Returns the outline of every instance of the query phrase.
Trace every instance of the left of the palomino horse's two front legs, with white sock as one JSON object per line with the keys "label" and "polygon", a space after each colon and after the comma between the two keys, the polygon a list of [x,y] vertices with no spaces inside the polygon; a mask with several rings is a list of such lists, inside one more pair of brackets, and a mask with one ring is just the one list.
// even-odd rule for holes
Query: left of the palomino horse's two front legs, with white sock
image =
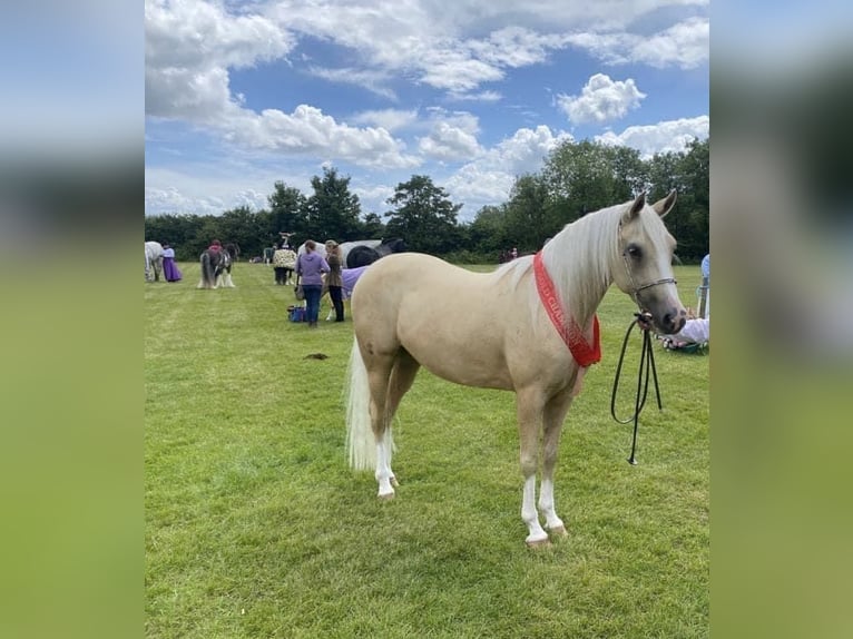
{"label": "left of the palomino horse's two front legs, with white sock", "polygon": [[539,523],[539,514],[536,511],[536,469],[542,402],[538,392],[519,392],[517,402],[521,474],[524,478],[521,519],[528,529],[524,541],[529,547],[536,548],[548,543],[548,533]]}

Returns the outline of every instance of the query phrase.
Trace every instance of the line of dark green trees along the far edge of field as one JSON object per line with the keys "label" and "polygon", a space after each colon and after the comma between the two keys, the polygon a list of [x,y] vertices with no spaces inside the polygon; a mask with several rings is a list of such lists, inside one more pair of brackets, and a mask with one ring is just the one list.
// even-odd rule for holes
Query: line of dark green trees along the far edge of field
{"label": "line of dark green trees along the far edge of field", "polygon": [[678,240],[678,258],[692,263],[708,253],[708,159],[709,140],[694,140],[683,153],[648,160],[627,147],[566,141],[549,154],[539,173],[517,177],[504,204],[481,208],[470,223],[459,222],[462,205],[424,175],[399,184],[382,216],[363,214],[359,197],[350,191],[350,177],[325,168],[323,176],[312,178],[308,196],[276,181],[262,210],[146,216],[145,239],[168,242],[178,259],[195,260],[213,238],[237,243],[246,258],[262,255],[280,232],[293,233],[296,243],[310,237],[402,237],[411,250],[458,263],[493,263],[513,246],[520,254],[536,252],[566,224],[640,190],[654,201],[675,188],[678,201],[667,226]]}

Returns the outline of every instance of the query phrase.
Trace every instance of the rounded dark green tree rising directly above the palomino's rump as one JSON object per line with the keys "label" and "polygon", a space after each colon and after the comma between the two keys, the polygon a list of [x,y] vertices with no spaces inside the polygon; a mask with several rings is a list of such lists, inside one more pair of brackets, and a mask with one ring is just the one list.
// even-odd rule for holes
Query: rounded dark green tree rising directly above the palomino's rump
{"label": "rounded dark green tree rising directly above the palomino's rump", "polygon": [[402,237],[411,250],[433,255],[457,248],[457,216],[462,205],[453,204],[429,176],[413,175],[409,181],[398,184],[386,203],[395,207],[385,214],[389,236]]}

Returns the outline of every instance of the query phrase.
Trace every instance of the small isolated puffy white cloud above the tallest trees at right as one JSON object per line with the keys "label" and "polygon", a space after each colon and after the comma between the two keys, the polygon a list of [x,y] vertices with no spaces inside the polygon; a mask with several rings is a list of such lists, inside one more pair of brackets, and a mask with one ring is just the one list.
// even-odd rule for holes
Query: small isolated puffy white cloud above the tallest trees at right
{"label": "small isolated puffy white cloud above the tallest trees at right", "polygon": [[614,81],[609,76],[596,73],[580,96],[560,94],[557,104],[575,124],[600,124],[624,118],[630,109],[639,107],[645,97],[633,79]]}

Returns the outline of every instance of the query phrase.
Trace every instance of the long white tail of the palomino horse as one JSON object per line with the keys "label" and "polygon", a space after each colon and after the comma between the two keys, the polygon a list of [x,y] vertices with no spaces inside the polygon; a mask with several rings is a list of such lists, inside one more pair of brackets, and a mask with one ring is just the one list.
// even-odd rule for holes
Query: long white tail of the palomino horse
{"label": "long white tail of the palomino horse", "polygon": [[350,466],[360,470],[376,469],[376,440],[370,421],[370,386],[367,368],[353,340],[350,365],[346,372],[346,451]]}

